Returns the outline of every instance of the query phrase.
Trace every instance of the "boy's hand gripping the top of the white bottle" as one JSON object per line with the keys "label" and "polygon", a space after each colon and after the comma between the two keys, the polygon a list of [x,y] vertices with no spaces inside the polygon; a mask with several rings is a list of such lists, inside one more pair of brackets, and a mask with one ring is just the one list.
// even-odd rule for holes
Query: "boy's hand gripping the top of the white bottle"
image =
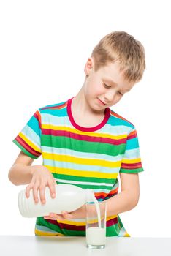
{"label": "boy's hand gripping the top of the white bottle", "polygon": [[52,173],[45,166],[42,165],[34,165],[33,166],[33,175],[31,179],[31,183],[26,187],[26,197],[30,196],[30,190],[33,190],[33,197],[35,203],[39,202],[39,198],[41,203],[46,203],[45,200],[45,187],[48,186],[50,188],[50,195],[52,198],[56,197],[56,189],[55,184],[56,181],[53,178]]}

